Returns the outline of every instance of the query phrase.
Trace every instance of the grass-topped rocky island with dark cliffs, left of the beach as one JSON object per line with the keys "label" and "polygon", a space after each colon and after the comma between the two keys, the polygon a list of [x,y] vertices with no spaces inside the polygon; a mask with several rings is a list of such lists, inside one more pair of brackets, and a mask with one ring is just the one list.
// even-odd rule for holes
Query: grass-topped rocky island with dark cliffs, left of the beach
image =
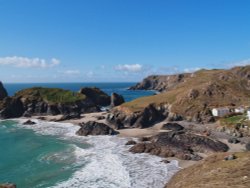
{"label": "grass-topped rocky island with dark cliffs, left of the beach", "polygon": [[[0,102],[0,117],[58,114],[76,117],[81,113],[100,111],[99,105],[103,104],[103,93],[96,89],[91,92],[92,97],[88,97],[81,93],[55,88],[25,89]],[[95,96],[94,100],[93,96]]]}

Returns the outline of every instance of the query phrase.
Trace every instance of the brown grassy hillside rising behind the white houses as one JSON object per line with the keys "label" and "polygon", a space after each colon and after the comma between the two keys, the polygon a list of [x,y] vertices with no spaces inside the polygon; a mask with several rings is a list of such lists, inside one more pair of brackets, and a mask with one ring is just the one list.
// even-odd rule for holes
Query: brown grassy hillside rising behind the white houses
{"label": "brown grassy hillside rising behind the white houses", "polygon": [[141,111],[149,104],[171,105],[171,111],[193,116],[205,109],[220,106],[250,105],[250,66],[231,70],[200,70],[158,95],[124,103],[131,112]]}

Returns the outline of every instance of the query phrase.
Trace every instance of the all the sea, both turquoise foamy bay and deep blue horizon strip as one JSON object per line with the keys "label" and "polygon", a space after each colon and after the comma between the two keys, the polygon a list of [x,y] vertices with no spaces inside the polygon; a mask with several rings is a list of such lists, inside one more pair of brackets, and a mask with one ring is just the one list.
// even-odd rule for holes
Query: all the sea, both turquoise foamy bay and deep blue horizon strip
{"label": "all the sea, both turquoise foamy bay and deep blue horizon strip", "polygon": [[[56,87],[78,91],[98,87],[116,92],[126,101],[153,95],[130,91],[135,83],[32,83],[4,84],[10,96],[30,87]],[[70,123],[25,119],[0,120],[0,183],[17,188],[161,188],[180,169],[178,162],[162,162],[149,154],[128,152],[132,138],[77,136]]]}

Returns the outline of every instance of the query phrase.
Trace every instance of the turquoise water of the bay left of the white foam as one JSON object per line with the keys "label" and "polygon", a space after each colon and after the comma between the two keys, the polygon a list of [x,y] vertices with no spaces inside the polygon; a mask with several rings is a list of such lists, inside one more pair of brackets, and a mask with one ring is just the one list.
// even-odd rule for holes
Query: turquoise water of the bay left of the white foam
{"label": "turquoise water of the bay left of the white foam", "polygon": [[0,143],[0,182],[20,188],[52,186],[85,165],[76,163],[73,143],[18,128],[15,121],[0,122]]}

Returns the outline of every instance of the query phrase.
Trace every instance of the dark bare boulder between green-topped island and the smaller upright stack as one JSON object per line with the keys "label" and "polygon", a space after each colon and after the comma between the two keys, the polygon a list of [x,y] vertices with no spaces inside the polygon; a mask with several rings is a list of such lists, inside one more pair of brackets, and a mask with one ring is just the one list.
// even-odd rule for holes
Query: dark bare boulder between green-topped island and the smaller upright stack
{"label": "dark bare boulder between green-topped island and the smaller upright stack", "polygon": [[108,96],[106,93],[104,93],[99,88],[85,87],[85,88],[81,88],[79,93],[87,96],[87,98],[92,100],[96,105],[108,106],[110,104],[110,96]]}

